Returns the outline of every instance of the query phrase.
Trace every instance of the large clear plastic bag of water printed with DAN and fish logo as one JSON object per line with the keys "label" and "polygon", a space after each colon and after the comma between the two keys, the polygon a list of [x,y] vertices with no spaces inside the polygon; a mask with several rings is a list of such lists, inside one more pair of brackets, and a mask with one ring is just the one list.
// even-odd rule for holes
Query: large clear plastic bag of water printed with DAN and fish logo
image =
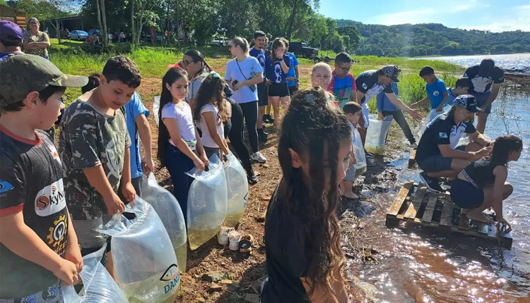
{"label": "large clear plastic bag of water printed with DAN and fish logo", "polygon": [[134,204],[95,230],[112,236],[114,269],[129,302],[172,303],[180,284],[175,249],[153,206],[139,197]]}

